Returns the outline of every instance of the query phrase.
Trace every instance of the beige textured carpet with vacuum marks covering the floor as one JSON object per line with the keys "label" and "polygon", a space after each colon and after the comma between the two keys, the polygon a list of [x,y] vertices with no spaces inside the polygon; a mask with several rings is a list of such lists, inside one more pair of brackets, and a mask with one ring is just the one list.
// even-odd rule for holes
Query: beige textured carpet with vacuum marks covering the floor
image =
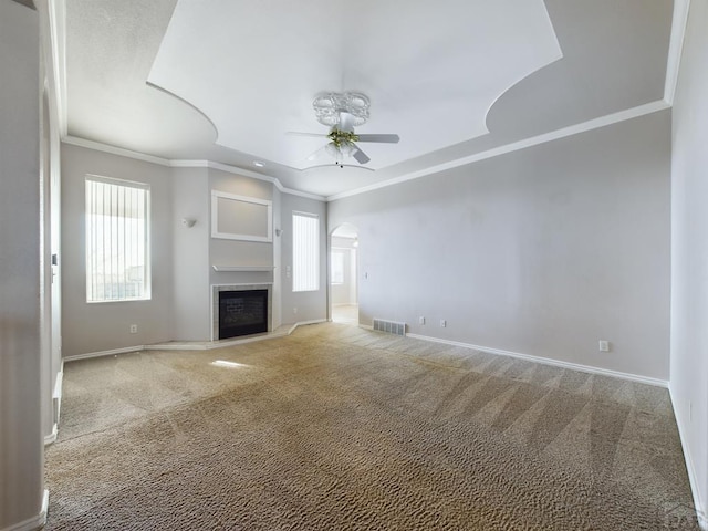
{"label": "beige textured carpet with vacuum marks covering the floor", "polygon": [[334,323],[66,364],[46,477],[49,530],[697,529],[665,389]]}

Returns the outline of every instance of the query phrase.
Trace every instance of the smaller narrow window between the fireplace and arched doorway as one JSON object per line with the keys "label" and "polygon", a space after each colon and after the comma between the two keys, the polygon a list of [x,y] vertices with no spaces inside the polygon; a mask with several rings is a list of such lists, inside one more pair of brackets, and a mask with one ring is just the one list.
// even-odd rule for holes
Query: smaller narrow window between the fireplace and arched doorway
{"label": "smaller narrow window between the fireplace and arched doorway", "polygon": [[292,291],[320,289],[320,218],[292,215]]}

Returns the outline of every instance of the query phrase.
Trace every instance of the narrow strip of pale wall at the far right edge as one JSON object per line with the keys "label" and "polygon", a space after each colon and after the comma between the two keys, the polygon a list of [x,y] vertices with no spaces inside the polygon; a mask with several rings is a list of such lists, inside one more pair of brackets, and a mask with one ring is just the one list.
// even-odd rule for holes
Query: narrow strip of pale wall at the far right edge
{"label": "narrow strip of pale wall at the far right edge", "polygon": [[[674,103],[670,389],[698,509],[708,511],[708,0],[693,0]],[[707,523],[707,522],[705,522]],[[708,524],[706,525],[708,529]]]}

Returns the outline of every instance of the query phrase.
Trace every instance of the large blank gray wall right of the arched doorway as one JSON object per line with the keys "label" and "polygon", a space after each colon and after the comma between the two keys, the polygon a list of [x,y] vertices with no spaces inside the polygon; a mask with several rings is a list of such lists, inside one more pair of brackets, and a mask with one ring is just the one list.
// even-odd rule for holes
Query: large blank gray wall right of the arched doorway
{"label": "large blank gray wall right of the arched doorway", "polygon": [[668,379],[669,150],[662,112],[331,202],[360,322]]}

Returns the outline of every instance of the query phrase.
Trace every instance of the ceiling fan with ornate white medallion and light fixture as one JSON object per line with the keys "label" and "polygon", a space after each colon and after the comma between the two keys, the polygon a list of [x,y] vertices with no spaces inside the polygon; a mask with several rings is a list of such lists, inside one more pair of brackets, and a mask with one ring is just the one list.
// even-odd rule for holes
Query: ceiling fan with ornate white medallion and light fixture
{"label": "ceiling fan with ornate white medallion and light fixture", "polygon": [[317,122],[330,126],[330,133],[295,133],[298,136],[316,136],[329,138],[329,143],[308,157],[308,160],[317,159],[323,153],[334,158],[334,164],[344,167],[344,159],[353,157],[358,164],[371,160],[357,142],[374,142],[397,144],[400,139],[394,134],[356,134],[354,127],[363,125],[368,119],[369,101],[364,94],[345,92],[343,94],[329,92],[319,94],[312,102],[312,107],[317,116]]}

